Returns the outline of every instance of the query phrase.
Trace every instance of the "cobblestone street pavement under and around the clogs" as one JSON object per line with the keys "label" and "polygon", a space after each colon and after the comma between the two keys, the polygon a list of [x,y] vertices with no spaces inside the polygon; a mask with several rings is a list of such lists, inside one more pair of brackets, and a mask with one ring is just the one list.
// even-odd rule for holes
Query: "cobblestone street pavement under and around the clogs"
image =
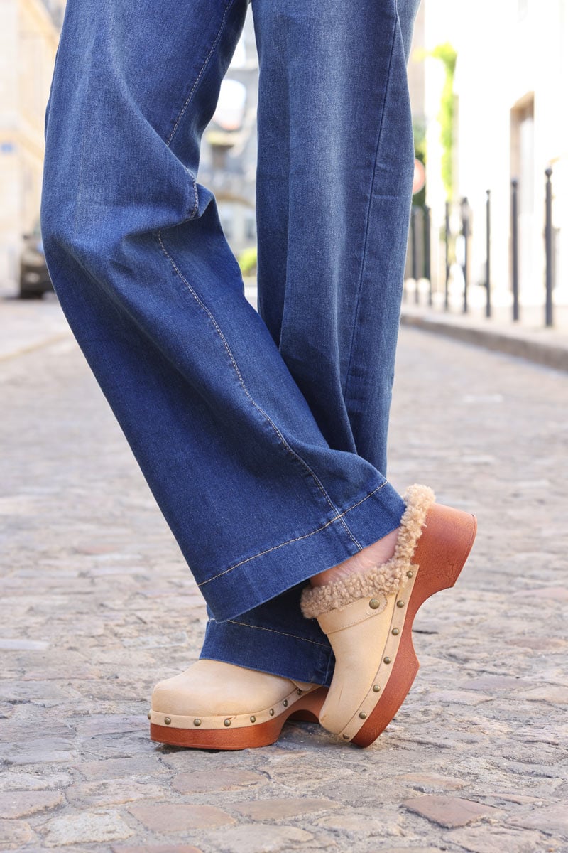
{"label": "cobblestone street pavement under and around the clogs", "polygon": [[258,750],[152,743],[198,591],[74,341],[4,359],[0,393],[1,849],[568,851],[565,374],[401,329],[389,478],[479,536],[364,751],[299,722]]}

